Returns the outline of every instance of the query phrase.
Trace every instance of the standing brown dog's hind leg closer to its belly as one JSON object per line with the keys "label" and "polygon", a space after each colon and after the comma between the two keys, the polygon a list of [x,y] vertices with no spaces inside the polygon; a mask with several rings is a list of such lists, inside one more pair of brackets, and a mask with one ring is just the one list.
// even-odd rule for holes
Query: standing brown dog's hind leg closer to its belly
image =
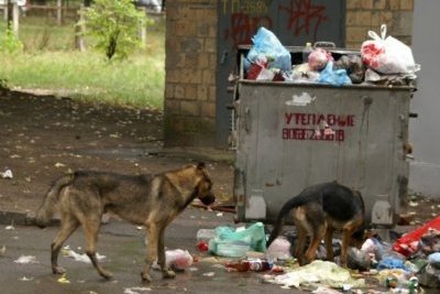
{"label": "standing brown dog's hind leg closer to its belly", "polygon": [[96,246],[101,216],[97,216],[96,218],[86,218],[86,221],[82,224],[87,240],[86,253],[98,273],[105,279],[111,279],[113,275],[109,271],[106,271],[101,265],[99,265],[98,259],[96,257]]}

